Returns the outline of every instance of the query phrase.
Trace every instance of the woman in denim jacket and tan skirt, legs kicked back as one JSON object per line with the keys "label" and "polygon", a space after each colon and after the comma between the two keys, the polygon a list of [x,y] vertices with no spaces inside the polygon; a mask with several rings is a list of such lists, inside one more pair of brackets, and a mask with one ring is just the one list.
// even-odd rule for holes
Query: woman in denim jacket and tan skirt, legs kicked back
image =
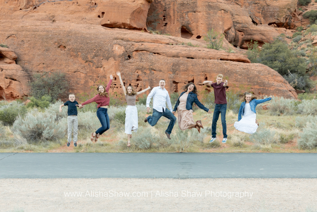
{"label": "woman in denim jacket and tan skirt, legs kicked back", "polygon": [[208,108],[199,102],[197,98],[197,88],[192,82],[184,86],[184,92],[182,92],[178,97],[172,113],[175,115],[175,111],[177,110],[178,126],[181,130],[196,128],[200,133],[200,127],[204,127],[201,120],[196,121],[196,123],[194,122],[192,110],[194,102],[199,108],[203,109],[207,113],[211,113]]}

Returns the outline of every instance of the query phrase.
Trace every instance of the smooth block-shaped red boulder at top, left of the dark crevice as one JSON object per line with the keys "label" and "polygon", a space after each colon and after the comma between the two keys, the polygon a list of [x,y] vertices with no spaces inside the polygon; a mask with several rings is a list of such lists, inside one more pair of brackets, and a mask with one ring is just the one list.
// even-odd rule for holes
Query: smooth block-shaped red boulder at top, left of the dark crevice
{"label": "smooth block-shaped red boulder at top, left of the dark crevice", "polygon": [[[153,0],[107,0],[100,7],[101,26],[146,30],[147,12]],[[99,15],[100,16],[100,15]]]}

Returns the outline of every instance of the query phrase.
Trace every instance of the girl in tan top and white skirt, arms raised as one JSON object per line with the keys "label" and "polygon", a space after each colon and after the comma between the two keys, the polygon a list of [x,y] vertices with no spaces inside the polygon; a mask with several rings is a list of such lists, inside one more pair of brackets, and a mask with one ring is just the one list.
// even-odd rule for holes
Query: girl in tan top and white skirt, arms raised
{"label": "girl in tan top and white skirt, arms raised", "polygon": [[138,130],[138,110],[137,107],[135,106],[135,97],[138,94],[144,93],[147,90],[150,89],[150,86],[146,88],[145,90],[142,90],[140,92],[135,92],[133,87],[129,85],[127,88],[125,88],[122,79],[121,79],[121,73],[116,72],[120,79],[121,87],[123,90],[124,95],[126,96],[126,103],[128,106],[126,107],[126,122],[124,124],[125,127],[125,133],[128,136],[128,143],[127,147],[131,147],[130,144],[130,138],[132,138],[132,130],[136,132]]}

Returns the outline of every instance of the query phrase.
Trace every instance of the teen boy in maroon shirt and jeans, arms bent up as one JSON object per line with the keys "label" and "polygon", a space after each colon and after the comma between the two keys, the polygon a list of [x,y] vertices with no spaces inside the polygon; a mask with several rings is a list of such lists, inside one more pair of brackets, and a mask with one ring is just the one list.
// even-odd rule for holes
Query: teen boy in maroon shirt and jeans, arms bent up
{"label": "teen boy in maroon shirt and jeans, arms bent up", "polygon": [[205,85],[209,85],[214,88],[215,93],[215,110],[214,115],[212,117],[212,125],[211,125],[211,140],[209,143],[214,142],[216,140],[216,129],[217,129],[217,121],[219,119],[219,114],[221,114],[221,123],[222,123],[222,133],[223,140],[222,143],[227,141],[227,124],[226,124],[226,111],[227,111],[227,99],[226,99],[226,87],[228,85],[228,80],[222,81],[223,75],[217,75],[217,82],[212,83],[212,81],[204,81]]}

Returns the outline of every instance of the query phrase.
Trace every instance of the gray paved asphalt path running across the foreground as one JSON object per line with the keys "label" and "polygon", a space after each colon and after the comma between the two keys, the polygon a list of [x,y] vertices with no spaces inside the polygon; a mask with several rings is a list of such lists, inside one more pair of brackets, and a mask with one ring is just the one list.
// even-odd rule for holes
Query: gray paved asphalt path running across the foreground
{"label": "gray paved asphalt path running across the foreground", "polygon": [[317,178],[314,153],[0,153],[0,178]]}

